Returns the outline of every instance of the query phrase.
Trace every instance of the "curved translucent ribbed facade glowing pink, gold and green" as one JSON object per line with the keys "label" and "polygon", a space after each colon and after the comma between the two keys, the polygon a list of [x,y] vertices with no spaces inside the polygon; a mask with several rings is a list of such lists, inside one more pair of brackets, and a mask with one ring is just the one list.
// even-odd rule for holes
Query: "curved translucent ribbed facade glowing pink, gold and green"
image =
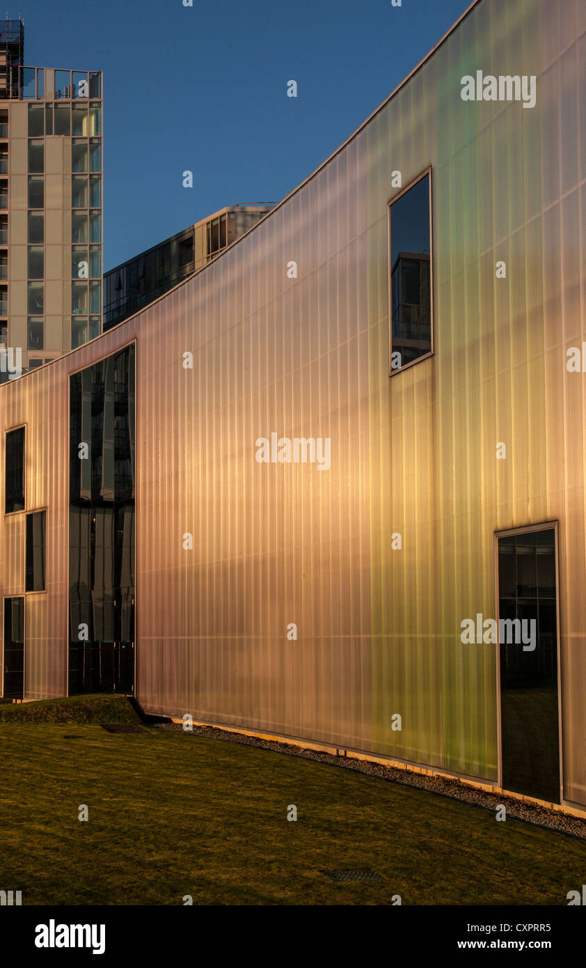
{"label": "curved translucent ribbed facade glowing pink, gold and green", "polygon": [[[537,76],[536,106],[463,101],[480,70]],[[562,799],[586,806],[585,92],[583,3],[481,0],[235,245],[0,387],[47,508],[27,696],[67,691],[69,377],[135,340],[142,707],[498,783],[498,647],[461,622],[496,615],[495,532],[551,522]],[[389,203],[427,169],[433,354],[390,377]],[[329,439],[329,467],[259,462],[272,434]],[[24,518],[0,519],[7,596]]]}

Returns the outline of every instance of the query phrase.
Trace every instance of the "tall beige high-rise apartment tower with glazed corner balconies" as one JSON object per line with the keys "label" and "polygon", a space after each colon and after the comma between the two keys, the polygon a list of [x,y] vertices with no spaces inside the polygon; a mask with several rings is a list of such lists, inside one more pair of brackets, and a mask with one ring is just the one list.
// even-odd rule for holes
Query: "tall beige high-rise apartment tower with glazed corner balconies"
{"label": "tall beige high-rise apartment tower with glazed corner balconies", "polygon": [[0,21],[0,381],[102,331],[102,158],[102,73],[25,67]]}

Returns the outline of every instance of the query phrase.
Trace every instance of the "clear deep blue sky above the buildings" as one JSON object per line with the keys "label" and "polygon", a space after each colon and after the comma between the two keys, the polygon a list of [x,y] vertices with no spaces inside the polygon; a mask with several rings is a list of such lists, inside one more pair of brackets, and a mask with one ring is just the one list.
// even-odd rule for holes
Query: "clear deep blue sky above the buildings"
{"label": "clear deep blue sky above the buildings", "polygon": [[[104,73],[104,269],[224,205],[284,197],[469,6],[19,2],[27,65]],[[290,79],[296,99],[286,96]],[[191,189],[182,186],[188,168]]]}

